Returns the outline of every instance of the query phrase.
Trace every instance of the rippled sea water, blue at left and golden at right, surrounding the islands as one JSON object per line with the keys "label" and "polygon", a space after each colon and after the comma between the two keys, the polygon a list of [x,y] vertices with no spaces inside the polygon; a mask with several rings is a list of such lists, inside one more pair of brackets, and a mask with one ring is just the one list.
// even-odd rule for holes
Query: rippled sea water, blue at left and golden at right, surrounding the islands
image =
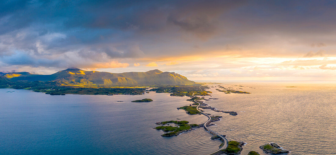
{"label": "rippled sea water, blue at left and golden at right, surrounding the islands", "polygon": [[[242,155],[249,151],[265,155],[259,146],[270,142],[292,155],[335,154],[335,83],[240,81],[220,85],[242,85],[232,87],[252,93],[225,94],[212,87],[212,98],[219,99],[205,101],[239,113],[232,116],[206,110],[223,116],[214,122],[214,131],[227,135],[228,140],[247,143]],[[130,102],[142,98],[154,101]],[[156,122],[176,118],[205,122],[204,115],[176,109],[190,104],[188,98],[155,92],[52,96],[0,89],[0,154],[207,154],[221,142],[210,140],[212,135],[204,128],[173,137],[161,137],[162,131],[152,129]]]}

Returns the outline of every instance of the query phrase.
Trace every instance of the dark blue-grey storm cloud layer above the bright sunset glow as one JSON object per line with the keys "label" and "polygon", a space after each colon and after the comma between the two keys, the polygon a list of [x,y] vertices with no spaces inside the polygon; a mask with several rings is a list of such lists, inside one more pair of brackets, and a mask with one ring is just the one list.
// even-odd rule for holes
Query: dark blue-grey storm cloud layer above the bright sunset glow
{"label": "dark blue-grey storm cloud layer above the bright sunset glow", "polygon": [[[279,40],[320,48],[335,43],[328,36],[335,33],[335,6],[281,0],[2,1],[0,62],[61,67],[72,62],[62,54],[94,63],[225,51],[230,44],[258,49]],[[307,37],[315,34],[323,37]]]}

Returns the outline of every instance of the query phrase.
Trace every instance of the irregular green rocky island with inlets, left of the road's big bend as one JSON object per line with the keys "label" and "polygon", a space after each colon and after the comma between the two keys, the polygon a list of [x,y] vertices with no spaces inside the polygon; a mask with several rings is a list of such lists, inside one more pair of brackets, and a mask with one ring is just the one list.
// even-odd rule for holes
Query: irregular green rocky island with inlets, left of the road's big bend
{"label": "irregular green rocky island with inlets, left of the road's big bend", "polygon": [[[163,126],[163,125],[169,125],[168,123],[173,123],[175,125],[177,125],[176,127],[173,127],[173,126]],[[153,128],[153,129],[156,129],[156,130],[162,130],[164,132],[169,132],[169,133],[165,133],[161,136],[163,137],[169,137],[169,136],[177,136],[179,135],[180,133],[182,132],[185,132],[185,131],[191,131],[191,130],[194,130],[193,127],[204,127],[204,124],[188,124],[189,122],[188,121],[165,121],[165,122],[157,122],[155,123],[156,125],[162,125],[160,127],[156,127],[156,128]]]}

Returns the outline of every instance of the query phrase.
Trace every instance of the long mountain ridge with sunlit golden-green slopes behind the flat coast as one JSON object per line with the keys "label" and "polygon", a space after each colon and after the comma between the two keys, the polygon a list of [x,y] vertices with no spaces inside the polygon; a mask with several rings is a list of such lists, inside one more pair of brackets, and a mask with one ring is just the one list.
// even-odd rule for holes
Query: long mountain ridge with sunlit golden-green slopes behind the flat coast
{"label": "long mountain ridge with sunlit golden-green slopes behind the flat coast", "polygon": [[69,68],[51,75],[37,75],[28,72],[7,73],[11,81],[62,81],[80,85],[135,85],[135,84],[193,84],[194,81],[174,72],[151,70],[148,72],[109,73],[84,71]]}

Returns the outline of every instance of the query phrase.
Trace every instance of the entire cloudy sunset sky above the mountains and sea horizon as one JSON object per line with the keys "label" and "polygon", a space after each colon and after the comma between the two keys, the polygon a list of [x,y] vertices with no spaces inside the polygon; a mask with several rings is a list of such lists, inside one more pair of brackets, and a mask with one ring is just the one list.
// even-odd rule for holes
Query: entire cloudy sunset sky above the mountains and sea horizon
{"label": "entire cloudy sunset sky above the mountains and sea horizon", "polygon": [[336,80],[335,0],[0,1],[0,72]]}

